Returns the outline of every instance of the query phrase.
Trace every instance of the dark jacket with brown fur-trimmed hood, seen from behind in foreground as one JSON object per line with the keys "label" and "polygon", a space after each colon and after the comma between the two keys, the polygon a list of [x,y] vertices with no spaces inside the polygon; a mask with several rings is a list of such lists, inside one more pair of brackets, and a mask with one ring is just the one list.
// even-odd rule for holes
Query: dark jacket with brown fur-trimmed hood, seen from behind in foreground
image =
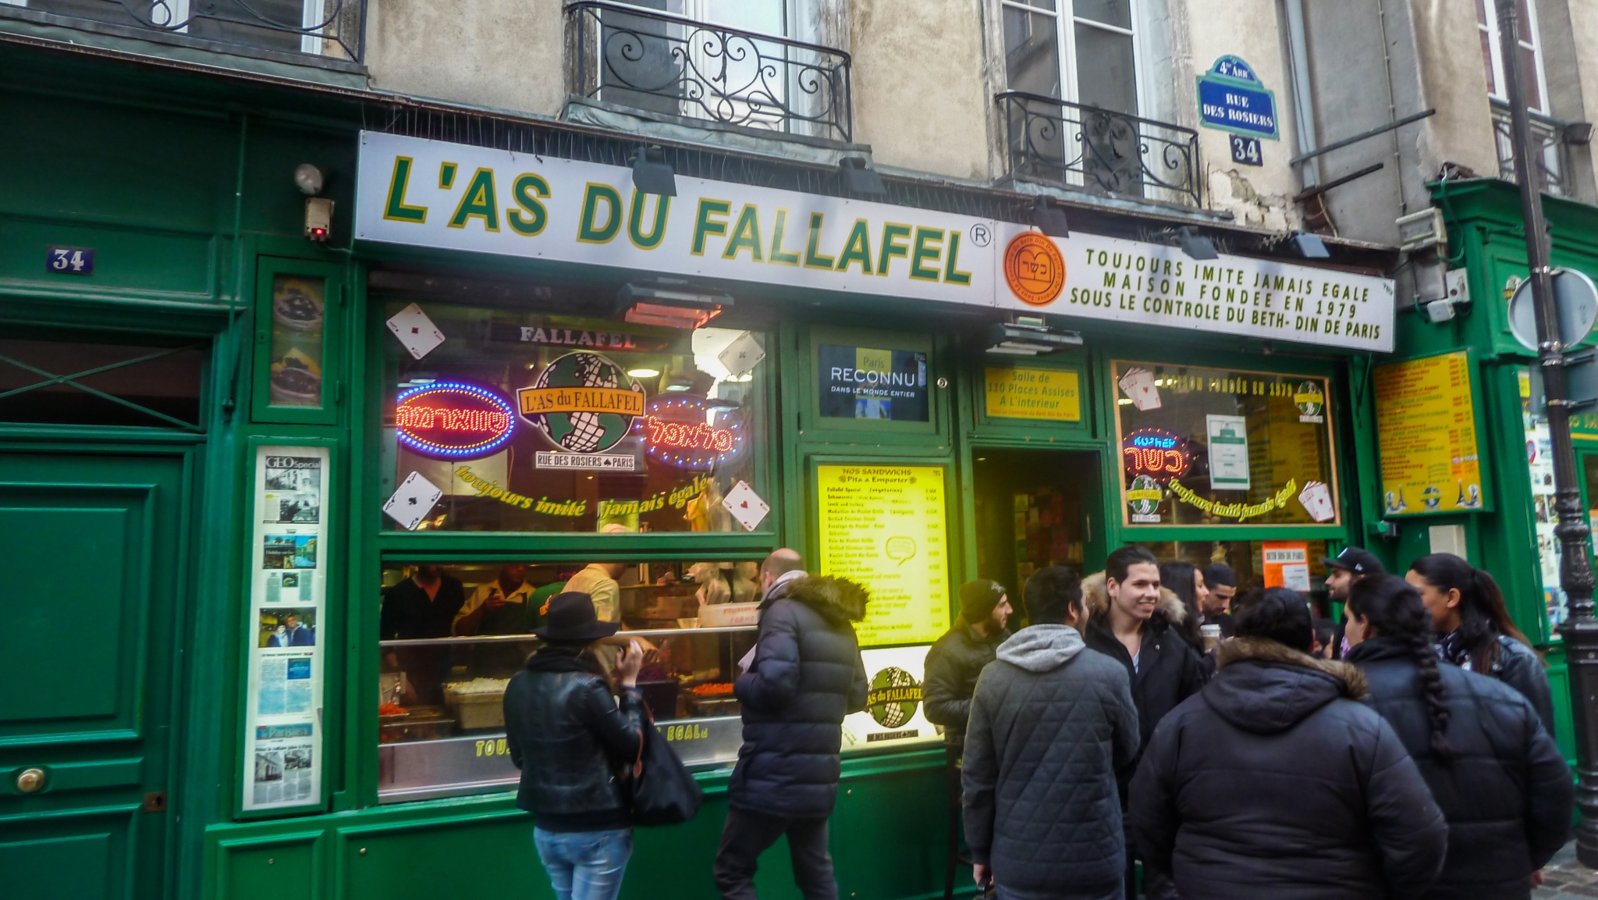
{"label": "dark jacket with brown fur-trimmed hood, seen from behind in foreground", "polygon": [[1232,638],[1131,782],[1144,860],[1183,900],[1422,897],[1448,826],[1352,665]]}

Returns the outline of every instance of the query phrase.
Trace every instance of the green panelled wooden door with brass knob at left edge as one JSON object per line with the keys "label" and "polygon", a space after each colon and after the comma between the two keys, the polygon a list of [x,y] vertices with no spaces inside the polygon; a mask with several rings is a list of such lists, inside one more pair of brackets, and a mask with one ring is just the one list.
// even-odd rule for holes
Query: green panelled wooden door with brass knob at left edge
{"label": "green panelled wooden door with brass knob at left edge", "polygon": [[165,894],[187,470],[0,449],[0,894]]}

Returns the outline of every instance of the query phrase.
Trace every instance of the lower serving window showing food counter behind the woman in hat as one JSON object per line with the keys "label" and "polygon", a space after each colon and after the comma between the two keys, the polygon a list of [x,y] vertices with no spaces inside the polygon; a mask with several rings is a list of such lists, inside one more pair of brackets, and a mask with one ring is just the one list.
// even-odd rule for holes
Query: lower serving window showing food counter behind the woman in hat
{"label": "lower serving window showing food counter behind the woman in hat", "polygon": [[537,649],[556,593],[582,588],[620,622],[598,659],[639,641],[639,689],[689,764],[729,763],[741,724],[732,681],[754,646],[753,560],[384,566],[379,625],[379,796],[422,799],[516,782],[503,695]]}

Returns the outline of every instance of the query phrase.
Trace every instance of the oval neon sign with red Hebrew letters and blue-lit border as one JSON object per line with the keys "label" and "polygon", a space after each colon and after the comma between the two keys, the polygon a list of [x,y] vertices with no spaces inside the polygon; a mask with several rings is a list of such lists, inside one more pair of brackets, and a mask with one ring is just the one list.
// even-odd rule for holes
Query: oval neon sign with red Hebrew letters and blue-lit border
{"label": "oval neon sign with red Hebrew letters and blue-lit border", "polygon": [[478,459],[499,452],[516,430],[516,409],[486,387],[433,382],[395,398],[395,436],[435,459]]}

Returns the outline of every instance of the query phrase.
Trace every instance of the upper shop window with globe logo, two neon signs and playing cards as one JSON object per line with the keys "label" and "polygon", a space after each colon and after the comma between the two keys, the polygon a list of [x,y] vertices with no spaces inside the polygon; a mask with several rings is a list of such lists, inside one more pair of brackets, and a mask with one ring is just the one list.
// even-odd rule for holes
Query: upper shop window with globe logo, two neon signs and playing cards
{"label": "upper shop window with globe logo, two neon signs and playing cards", "polygon": [[385,315],[387,528],[770,529],[765,334],[398,301]]}

